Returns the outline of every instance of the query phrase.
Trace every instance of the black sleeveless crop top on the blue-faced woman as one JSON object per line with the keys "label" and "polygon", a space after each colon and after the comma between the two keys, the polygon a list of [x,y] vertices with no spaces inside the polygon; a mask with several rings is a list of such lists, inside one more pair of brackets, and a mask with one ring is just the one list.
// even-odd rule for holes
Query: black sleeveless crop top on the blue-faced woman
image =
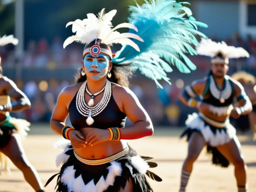
{"label": "black sleeveless crop top on the blue-faced woman", "polygon": [[94,123],[92,125],[88,125],[86,123],[87,117],[81,115],[78,112],[76,107],[76,96],[77,93],[70,102],[68,108],[70,122],[76,130],[79,130],[84,127],[95,127],[99,129],[108,129],[111,127],[124,127],[127,116],[125,113],[120,111],[118,105],[116,104],[113,97],[112,89],[108,105],[101,113],[92,117],[94,120]]}

